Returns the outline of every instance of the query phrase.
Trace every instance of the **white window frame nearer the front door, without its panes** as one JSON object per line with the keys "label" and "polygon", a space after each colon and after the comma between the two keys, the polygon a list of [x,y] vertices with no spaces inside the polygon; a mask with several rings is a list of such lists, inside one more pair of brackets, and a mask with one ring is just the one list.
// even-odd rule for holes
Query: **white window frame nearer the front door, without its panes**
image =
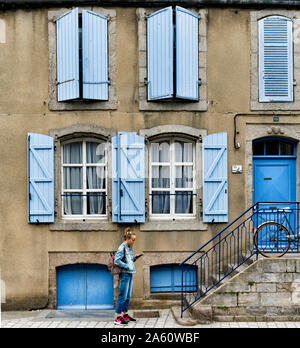
{"label": "white window frame nearer the front door, without its panes", "polygon": [[[170,142],[170,162],[153,162],[152,163],[152,151],[151,144],[161,141]],[[193,146],[193,162],[175,162],[175,142],[183,141],[191,143]],[[150,220],[173,220],[182,219],[190,220],[196,219],[196,144],[194,141],[186,139],[184,137],[159,137],[149,143],[149,218]],[[175,173],[176,166],[191,166],[193,165],[193,187],[192,188],[176,188],[175,187]],[[170,188],[158,189],[152,188],[152,166],[170,166]],[[152,192],[155,191],[166,191],[170,192],[170,214],[153,214],[152,213]],[[189,214],[176,214],[175,213],[175,192],[176,191],[187,191],[193,194],[193,213]]]}

